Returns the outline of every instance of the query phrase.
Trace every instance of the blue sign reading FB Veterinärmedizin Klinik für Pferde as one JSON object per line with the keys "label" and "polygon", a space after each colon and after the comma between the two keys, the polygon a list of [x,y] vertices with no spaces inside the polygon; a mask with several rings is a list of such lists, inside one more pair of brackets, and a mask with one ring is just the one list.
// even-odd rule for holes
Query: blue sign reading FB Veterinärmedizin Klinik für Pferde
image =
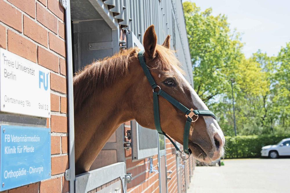
{"label": "blue sign reading FB Veterin\u00e4rmedizin Klinik f\u00fcr Pferde", "polygon": [[1,125],[0,191],[50,179],[50,128]]}

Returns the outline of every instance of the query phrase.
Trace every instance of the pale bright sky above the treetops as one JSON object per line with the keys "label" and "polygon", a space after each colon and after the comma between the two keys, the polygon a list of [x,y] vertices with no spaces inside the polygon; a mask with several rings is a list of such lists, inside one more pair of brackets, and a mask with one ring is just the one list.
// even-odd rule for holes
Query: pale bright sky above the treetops
{"label": "pale bright sky above the treetops", "polygon": [[[183,0],[184,1],[184,0]],[[213,9],[213,15],[227,15],[231,29],[242,33],[248,58],[261,49],[277,55],[290,41],[290,0],[192,0],[201,10]]]}

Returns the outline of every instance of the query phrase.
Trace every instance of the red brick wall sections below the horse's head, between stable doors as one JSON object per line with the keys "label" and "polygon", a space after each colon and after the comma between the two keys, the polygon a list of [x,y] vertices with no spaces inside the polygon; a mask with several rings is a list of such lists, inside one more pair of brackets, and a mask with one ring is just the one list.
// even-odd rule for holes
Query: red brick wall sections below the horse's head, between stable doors
{"label": "red brick wall sections below the horse's head, between stable doors", "polygon": [[[130,121],[125,123],[125,133],[127,130],[131,130]],[[126,141],[129,141],[126,139]],[[176,193],[177,190],[177,164],[176,164],[176,150],[171,142],[166,139],[166,164],[167,170],[172,170],[172,174],[167,173],[167,176],[171,179],[167,180],[168,192]],[[132,151],[125,150],[126,156],[126,172],[131,173],[133,180],[131,183],[127,184],[128,193],[139,193],[139,192],[159,192],[159,173],[153,172],[149,173],[148,171],[148,159],[142,160],[132,160]],[[177,155],[179,156],[179,155]],[[158,155],[152,156],[153,158],[153,169],[158,170]],[[194,159],[190,157],[187,161],[182,161],[181,164],[186,164],[186,170],[181,170],[182,172],[182,192],[185,192],[185,177],[184,172],[187,174],[187,182],[190,181],[189,169],[191,169],[191,174],[193,173],[193,164]],[[191,168],[189,168],[189,164]],[[182,168],[182,167],[179,167]],[[187,184],[188,186],[188,184]]]}

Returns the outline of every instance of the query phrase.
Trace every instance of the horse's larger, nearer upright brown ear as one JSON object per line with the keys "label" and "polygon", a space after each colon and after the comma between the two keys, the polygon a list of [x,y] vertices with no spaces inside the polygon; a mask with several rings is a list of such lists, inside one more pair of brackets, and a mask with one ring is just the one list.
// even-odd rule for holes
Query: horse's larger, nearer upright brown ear
{"label": "horse's larger, nearer upright brown ear", "polygon": [[147,28],[143,38],[145,57],[148,59],[153,59],[155,57],[156,44],[157,35],[155,33],[154,25],[151,25]]}

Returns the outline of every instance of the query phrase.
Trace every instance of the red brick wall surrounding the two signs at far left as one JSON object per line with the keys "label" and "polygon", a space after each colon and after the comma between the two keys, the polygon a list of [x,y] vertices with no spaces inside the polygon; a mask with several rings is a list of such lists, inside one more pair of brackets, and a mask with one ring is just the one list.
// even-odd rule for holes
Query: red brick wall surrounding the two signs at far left
{"label": "red brick wall surrounding the two signs at far left", "polygon": [[0,47],[50,69],[51,179],[5,192],[68,192],[64,9],[57,0],[0,0]]}

